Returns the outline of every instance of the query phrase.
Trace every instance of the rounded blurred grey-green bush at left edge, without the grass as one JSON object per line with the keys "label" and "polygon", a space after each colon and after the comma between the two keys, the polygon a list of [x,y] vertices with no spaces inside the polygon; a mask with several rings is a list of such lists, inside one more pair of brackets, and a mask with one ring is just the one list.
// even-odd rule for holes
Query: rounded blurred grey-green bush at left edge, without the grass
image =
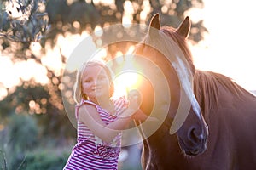
{"label": "rounded blurred grey-green bush at left edge, without the grass", "polygon": [[[13,115],[9,125],[0,131],[1,168],[7,169],[24,160],[24,153],[38,145],[38,126],[32,116]],[[3,164],[2,164],[3,162]]]}

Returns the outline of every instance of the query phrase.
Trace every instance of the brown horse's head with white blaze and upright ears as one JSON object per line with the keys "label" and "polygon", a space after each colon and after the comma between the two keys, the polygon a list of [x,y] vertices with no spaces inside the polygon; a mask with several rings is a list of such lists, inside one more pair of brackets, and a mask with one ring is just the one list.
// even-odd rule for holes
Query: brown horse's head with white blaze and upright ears
{"label": "brown horse's head with white blaze and upright ears", "polygon": [[[185,42],[189,30],[189,18],[186,18],[177,29],[173,29],[172,27],[160,27],[159,14],[155,14],[148,34],[142,42],[137,44],[135,59],[148,59],[154,63],[155,67],[146,66],[148,74],[159,72],[154,71],[154,68],[160,68],[163,72],[162,77],[165,77],[168,84],[168,89],[161,89],[164,95],[170,96],[166,110],[168,114],[163,122],[165,125],[162,126],[167,125],[168,128],[159,130],[166,130],[166,133],[170,133],[168,135],[176,133],[182,150],[187,155],[198,155],[206,150],[208,130],[193,92],[195,66]],[[143,63],[141,65],[143,66]],[[157,81],[160,76],[155,74],[154,79]],[[155,93],[154,84],[150,83],[150,80],[146,80],[140,89],[144,102],[142,110],[150,114],[152,108],[148,109],[148,106],[154,104],[159,92]],[[161,107],[161,104],[157,107]]]}

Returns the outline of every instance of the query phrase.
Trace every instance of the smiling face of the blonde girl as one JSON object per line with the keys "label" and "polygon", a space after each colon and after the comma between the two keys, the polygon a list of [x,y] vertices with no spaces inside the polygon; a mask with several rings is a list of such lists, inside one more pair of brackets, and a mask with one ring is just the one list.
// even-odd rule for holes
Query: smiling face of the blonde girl
{"label": "smiling face of the blonde girl", "polygon": [[110,82],[106,71],[99,65],[87,65],[82,76],[82,93],[89,99],[109,99]]}

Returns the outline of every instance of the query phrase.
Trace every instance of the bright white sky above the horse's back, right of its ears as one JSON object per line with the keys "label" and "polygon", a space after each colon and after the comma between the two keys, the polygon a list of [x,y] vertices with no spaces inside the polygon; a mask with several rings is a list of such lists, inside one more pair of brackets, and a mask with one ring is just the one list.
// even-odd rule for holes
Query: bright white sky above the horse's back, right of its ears
{"label": "bright white sky above the horse's back, right of its ears", "polygon": [[191,10],[191,20],[204,20],[209,31],[192,47],[195,66],[231,77],[247,90],[256,90],[256,24],[253,0],[204,0]]}

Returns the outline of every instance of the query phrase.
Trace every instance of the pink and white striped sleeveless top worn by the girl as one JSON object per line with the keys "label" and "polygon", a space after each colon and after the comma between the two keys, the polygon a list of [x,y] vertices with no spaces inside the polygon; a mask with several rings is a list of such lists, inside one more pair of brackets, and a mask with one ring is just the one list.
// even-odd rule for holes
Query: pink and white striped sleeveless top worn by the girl
{"label": "pink and white striped sleeveless top worn by the girl", "polygon": [[[108,111],[102,109],[100,105],[96,105],[90,100],[82,100],[79,105],[76,105],[75,114],[77,119],[79,107],[83,104],[94,105],[102,118],[102,122],[105,122],[106,125],[108,125],[108,123],[115,121],[121,112],[125,111],[127,100],[120,98],[113,101],[114,109],[116,111],[115,116],[109,114]],[[121,133],[119,133],[111,143],[106,143],[91,133],[90,129],[84,125],[83,122],[79,121],[77,132],[77,144],[73,147],[72,153],[63,169],[117,169],[119,153],[121,150]]]}

